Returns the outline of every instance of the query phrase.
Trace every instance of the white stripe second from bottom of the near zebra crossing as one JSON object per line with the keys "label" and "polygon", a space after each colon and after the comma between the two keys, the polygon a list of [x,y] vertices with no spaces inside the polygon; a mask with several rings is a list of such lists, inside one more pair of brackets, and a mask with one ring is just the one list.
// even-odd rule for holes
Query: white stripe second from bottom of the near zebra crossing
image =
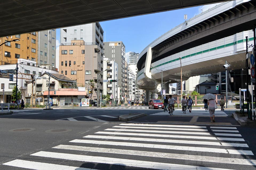
{"label": "white stripe second from bottom of the near zebra crossing", "polygon": [[47,158],[77,160],[82,162],[86,160],[86,162],[97,162],[97,163],[104,163],[104,164],[125,165],[130,167],[152,168],[152,169],[161,169],[161,170],[168,170],[168,169],[227,170],[223,168],[198,167],[198,166],[191,166],[191,165],[149,162],[149,161],[132,160],[132,159],[108,158],[108,157],[100,157],[100,156],[64,154],[64,153],[54,153],[54,152],[45,152],[45,151],[40,151],[32,155],[47,157]]}

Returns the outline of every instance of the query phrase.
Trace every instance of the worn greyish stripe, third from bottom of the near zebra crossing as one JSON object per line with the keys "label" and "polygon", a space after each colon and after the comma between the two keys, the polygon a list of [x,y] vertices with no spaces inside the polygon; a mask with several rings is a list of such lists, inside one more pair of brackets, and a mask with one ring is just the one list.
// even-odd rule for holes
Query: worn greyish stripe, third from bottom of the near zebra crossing
{"label": "worn greyish stripe, third from bottom of the near zebra crossing", "polygon": [[193,160],[193,161],[214,162],[214,163],[256,165],[256,160],[250,160],[250,159],[223,158],[223,157],[199,156],[199,155],[185,155],[185,154],[176,154],[176,153],[172,154],[172,153],[136,151],[136,150],[125,150],[125,152],[124,152],[124,150],[122,150],[122,149],[97,148],[97,147],[85,147],[85,146],[73,146],[73,145],[58,145],[58,146],[55,146],[53,148],[87,151],[87,152],[110,153],[110,154],[149,156],[149,157],[155,157],[155,158]]}

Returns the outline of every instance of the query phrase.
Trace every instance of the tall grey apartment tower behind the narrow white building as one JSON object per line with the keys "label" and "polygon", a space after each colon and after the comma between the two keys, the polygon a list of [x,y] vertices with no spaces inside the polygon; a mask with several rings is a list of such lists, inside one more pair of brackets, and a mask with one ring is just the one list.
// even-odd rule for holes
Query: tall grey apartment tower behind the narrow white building
{"label": "tall grey apartment tower behind the narrow white building", "polygon": [[122,41],[104,42],[104,56],[118,64],[118,100],[125,100],[125,45]]}

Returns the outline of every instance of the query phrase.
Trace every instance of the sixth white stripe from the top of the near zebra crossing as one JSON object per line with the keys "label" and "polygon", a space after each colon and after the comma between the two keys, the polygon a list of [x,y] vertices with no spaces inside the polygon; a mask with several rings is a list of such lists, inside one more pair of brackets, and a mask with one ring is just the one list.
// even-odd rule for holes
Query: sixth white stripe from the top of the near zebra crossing
{"label": "sixth white stripe from the top of the near zebra crossing", "polygon": [[207,148],[207,147],[192,147],[192,146],[175,146],[175,145],[157,145],[147,143],[131,143],[131,142],[113,142],[113,141],[93,141],[84,139],[75,139],[74,143],[90,143],[100,145],[115,145],[115,146],[130,146],[130,147],[145,147],[145,148],[159,148],[170,150],[182,150],[182,151],[197,151],[197,152],[214,152],[223,154],[237,154],[237,155],[253,155],[249,150],[232,150],[232,149],[219,149],[219,148]]}

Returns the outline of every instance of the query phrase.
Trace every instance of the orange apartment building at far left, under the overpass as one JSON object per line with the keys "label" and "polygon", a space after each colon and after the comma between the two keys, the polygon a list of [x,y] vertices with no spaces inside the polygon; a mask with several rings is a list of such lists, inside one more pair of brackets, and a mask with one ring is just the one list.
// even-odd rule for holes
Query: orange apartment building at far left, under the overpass
{"label": "orange apartment building at far left, under the overpass", "polygon": [[[18,40],[18,41],[12,41]],[[0,65],[16,64],[18,59],[23,58],[37,61],[38,33],[18,34],[1,37],[0,43],[7,42],[0,47]]]}

